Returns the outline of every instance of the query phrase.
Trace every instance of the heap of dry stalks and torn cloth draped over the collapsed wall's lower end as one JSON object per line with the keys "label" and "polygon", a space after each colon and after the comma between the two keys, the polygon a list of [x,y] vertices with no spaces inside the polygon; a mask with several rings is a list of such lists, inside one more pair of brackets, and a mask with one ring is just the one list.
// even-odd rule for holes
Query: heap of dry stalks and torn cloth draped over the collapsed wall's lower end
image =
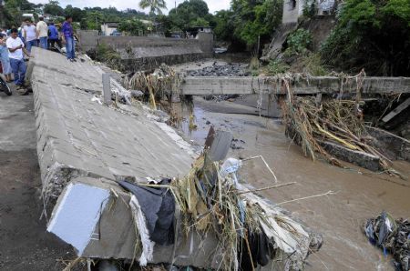
{"label": "heap of dry stalks and torn cloth draped over the collapsed wall's lower end", "polygon": [[[194,162],[188,176],[173,181],[166,180],[165,183],[163,180],[158,186],[149,185],[149,189],[157,186],[159,194],[167,195],[165,188],[172,192],[176,208],[180,212],[179,229],[182,236],[179,237],[188,238],[192,232],[217,237],[219,268],[253,270],[257,266],[267,266],[272,260],[275,262],[285,259],[286,270],[302,269],[305,258],[322,245],[321,236],[308,233],[304,226],[284,215],[279,207],[272,207],[241,186],[236,176],[241,163],[241,160],[229,158],[220,166],[219,162],[212,162],[206,155],[202,155]],[[127,185],[121,183],[121,186]],[[147,188],[137,188],[140,191],[145,189]],[[133,198],[138,198],[139,201],[141,196]],[[169,203],[173,203],[172,197],[169,198]],[[133,206],[132,199],[130,206]],[[135,209],[140,210],[138,205]],[[163,245],[157,240],[154,243],[155,238],[162,236],[159,241],[172,244],[174,233],[179,233],[179,230],[174,232],[172,223],[168,223],[174,217],[173,208],[157,209],[164,217],[159,219],[160,226],[157,222],[155,228],[159,227],[159,230],[155,235],[147,235],[153,233],[150,230],[154,228],[153,225],[147,222],[147,230],[140,219],[135,219],[140,239],[145,239],[141,245],[140,265],[145,265],[151,258],[154,244]],[[149,218],[152,212],[143,213],[148,221],[152,220]],[[164,229],[168,229],[170,234]]]}

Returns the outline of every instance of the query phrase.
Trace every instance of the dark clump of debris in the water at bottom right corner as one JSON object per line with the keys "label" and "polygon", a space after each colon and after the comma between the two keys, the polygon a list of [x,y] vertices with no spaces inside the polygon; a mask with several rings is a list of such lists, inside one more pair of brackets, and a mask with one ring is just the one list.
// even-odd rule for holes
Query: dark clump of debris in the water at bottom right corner
{"label": "dark clump of debris in the water at bottom right corner", "polygon": [[395,257],[398,270],[410,270],[410,222],[400,218],[395,220],[386,212],[376,218],[370,218],[364,225],[364,233],[369,241],[381,247],[384,255],[391,253]]}

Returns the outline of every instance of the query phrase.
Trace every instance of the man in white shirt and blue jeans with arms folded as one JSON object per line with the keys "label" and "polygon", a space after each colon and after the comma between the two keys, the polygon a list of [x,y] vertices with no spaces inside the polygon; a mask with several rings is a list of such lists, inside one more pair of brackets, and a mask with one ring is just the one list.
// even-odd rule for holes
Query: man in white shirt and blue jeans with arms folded
{"label": "man in white shirt and blue jeans with arms folded", "polygon": [[5,45],[7,45],[10,52],[8,56],[13,74],[15,75],[15,85],[19,88],[24,87],[27,68],[23,53],[28,57],[30,57],[30,53],[27,52],[23,41],[18,37],[17,29],[13,28],[11,30],[11,36],[7,38]]}

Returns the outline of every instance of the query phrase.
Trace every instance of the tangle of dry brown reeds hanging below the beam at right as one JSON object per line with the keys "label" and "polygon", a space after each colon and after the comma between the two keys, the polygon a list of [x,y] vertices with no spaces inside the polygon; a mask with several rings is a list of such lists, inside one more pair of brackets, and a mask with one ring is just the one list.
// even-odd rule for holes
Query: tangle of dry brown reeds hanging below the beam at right
{"label": "tangle of dry brown reeds hanging below the beam at right", "polygon": [[400,176],[383,150],[374,146],[374,137],[365,129],[360,103],[357,100],[326,100],[318,102],[312,96],[293,96],[281,101],[286,135],[302,146],[306,156],[313,160],[316,153],[334,166],[343,166],[325,147],[327,143],[376,157],[378,168],[391,175]]}

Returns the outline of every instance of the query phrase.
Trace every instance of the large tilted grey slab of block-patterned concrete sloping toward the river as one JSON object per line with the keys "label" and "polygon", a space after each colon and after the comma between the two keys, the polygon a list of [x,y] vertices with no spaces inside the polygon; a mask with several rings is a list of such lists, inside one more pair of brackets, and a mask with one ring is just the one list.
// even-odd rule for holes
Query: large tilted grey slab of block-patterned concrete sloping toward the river
{"label": "large tilted grey slab of block-patterned concrete sloping toward the river", "polygon": [[[142,108],[123,114],[76,86],[100,86],[101,92],[100,70],[38,48],[33,54],[37,153],[46,195],[57,197],[77,176],[142,179],[189,171],[193,152],[176,144],[176,134],[171,137]],[[58,70],[63,67],[64,72]],[[68,78],[70,85],[64,83]]]}

